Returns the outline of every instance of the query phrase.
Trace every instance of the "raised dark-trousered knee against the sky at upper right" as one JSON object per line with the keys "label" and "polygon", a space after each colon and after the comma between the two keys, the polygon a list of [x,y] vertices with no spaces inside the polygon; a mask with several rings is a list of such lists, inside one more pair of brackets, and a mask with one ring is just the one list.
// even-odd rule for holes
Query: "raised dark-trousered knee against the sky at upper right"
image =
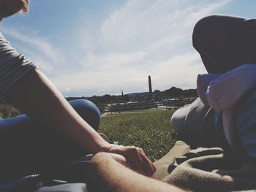
{"label": "raised dark-trousered knee against the sky at upper right", "polygon": [[256,20],[211,15],[197,22],[193,45],[208,73],[225,73],[256,61]]}

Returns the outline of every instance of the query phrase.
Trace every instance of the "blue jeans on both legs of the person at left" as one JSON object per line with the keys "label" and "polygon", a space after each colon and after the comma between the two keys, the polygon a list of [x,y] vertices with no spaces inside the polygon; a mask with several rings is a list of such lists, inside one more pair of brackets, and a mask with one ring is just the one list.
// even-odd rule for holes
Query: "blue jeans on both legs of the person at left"
{"label": "blue jeans on both legs of the person at left", "polygon": [[[100,112],[95,104],[85,99],[69,104],[98,130]],[[88,153],[27,115],[0,120],[0,152],[0,181],[46,171]]]}

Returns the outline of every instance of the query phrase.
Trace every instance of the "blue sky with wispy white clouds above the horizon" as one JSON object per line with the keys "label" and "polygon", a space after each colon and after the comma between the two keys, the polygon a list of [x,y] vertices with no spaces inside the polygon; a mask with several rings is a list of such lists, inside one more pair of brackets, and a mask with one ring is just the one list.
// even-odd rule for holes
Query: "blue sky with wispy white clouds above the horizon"
{"label": "blue sky with wispy white clouds above the horizon", "polygon": [[206,73],[192,47],[197,20],[255,18],[255,0],[31,0],[1,21],[19,53],[39,65],[64,96],[196,88]]}

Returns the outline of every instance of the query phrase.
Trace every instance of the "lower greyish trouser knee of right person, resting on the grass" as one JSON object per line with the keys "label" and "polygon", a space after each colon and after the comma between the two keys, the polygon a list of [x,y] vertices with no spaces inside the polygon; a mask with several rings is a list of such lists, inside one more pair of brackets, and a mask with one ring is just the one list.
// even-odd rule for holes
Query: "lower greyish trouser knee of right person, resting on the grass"
{"label": "lower greyish trouser knee of right person, resting on the grass", "polygon": [[177,138],[191,147],[219,146],[214,123],[215,111],[205,106],[198,98],[174,112],[171,123],[177,131]]}

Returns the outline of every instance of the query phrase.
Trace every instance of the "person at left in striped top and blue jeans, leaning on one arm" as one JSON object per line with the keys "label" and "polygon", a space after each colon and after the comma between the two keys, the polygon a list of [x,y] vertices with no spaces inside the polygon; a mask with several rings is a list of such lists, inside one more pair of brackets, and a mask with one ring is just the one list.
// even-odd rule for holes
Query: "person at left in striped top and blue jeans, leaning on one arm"
{"label": "person at left in striped top and blue jeans, leaning on one arm", "polygon": [[[26,12],[28,7],[29,0],[0,0],[0,20]],[[142,149],[113,145],[100,137],[95,131],[99,110],[94,104],[72,101],[76,112],[37,64],[12,48],[1,33],[0,56],[0,99],[26,113],[0,121],[1,180],[99,152],[123,155],[142,174],[154,173]]]}

